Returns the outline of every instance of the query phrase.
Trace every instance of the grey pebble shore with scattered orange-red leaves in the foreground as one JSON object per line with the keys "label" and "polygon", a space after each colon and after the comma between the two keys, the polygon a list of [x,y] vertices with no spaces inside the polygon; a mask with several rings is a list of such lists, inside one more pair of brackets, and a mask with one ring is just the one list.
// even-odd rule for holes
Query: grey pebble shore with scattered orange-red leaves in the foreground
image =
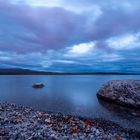
{"label": "grey pebble shore with scattered orange-red leaves in the foreground", "polygon": [[99,118],[37,111],[0,102],[0,140],[139,140],[128,130]]}

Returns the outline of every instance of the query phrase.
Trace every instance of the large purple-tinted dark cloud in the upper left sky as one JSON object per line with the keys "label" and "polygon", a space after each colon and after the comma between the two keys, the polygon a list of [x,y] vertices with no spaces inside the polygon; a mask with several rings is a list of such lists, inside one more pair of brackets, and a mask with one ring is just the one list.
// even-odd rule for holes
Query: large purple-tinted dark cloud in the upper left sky
{"label": "large purple-tinted dark cloud in the upper left sky", "polygon": [[24,30],[20,30],[16,39],[39,44],[42,46],[39,47],[40,51],[47,48],[63,48],[80,43],[82,39],[83,24],[81,22],[84,21],[84,17],[71,11],[58,7],[33,9],[27,6],[20,8],[10,6],[9,13],[7,7],[3,8],[2,12],[16,19],[18,24],[29,30],[29,34],[34,34],[34,37],[24,35]]}

